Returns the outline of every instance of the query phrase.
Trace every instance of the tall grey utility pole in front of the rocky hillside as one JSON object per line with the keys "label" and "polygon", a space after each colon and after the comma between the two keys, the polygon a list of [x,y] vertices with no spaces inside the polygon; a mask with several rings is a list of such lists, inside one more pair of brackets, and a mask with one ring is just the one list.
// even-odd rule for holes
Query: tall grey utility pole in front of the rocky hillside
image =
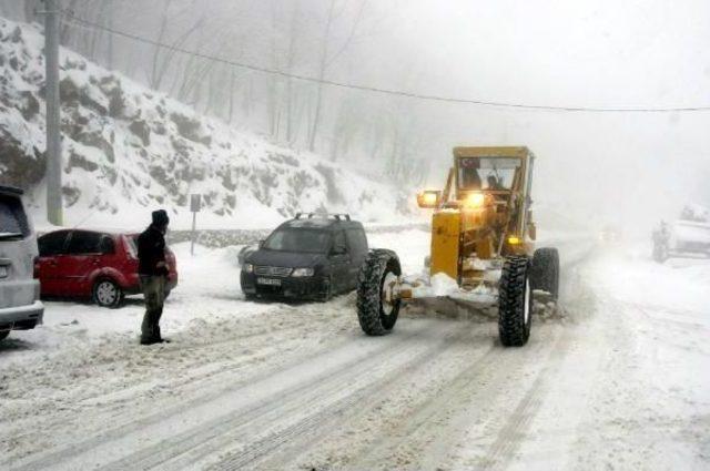
{"label": "tall grey utility pole in front of the rocky hillside", "polygon": [[63,223],[59,104],[59,0],[44,0],[44,99],[47,102],[47,219]]}

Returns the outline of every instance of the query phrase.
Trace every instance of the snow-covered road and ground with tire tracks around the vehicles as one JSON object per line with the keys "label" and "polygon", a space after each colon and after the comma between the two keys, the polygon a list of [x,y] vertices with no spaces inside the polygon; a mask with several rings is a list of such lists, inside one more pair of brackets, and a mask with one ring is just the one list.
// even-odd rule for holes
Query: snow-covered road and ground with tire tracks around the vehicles
{"label": "snow-covered road and ground with tire tracks around the vehicles", "polygon": [[[368,338],[354,295],[246,303],[234,248],[179,246],[172,344],[138,345],[139,304],[51,303],[0,346],[0,468],[708,469],[710,260],[558,243],[564,316],[519,349],[485,316],[410,309]],[[408,272],[428,252],[371,244]]]}

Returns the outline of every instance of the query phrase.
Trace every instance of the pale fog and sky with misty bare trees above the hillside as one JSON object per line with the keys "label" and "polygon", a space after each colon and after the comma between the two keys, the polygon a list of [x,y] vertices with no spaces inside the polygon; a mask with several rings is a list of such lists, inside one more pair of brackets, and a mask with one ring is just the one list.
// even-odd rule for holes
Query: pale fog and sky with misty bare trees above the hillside
{"label": "pale fog and sky with misty bare trees above the hillside", "polygon": [[[31,9],[0,2],[6,17]],[[515,0],[64,0],[119,32],[307,78],[420,95],[592,109],[707,107],[710,4]],[[710,111],[571,112],[403,98],[155,48],[67,17],[62,42],[231,125],[407,188],[454,145],[527,145],[535,199],[647,232],[710,203]]]}

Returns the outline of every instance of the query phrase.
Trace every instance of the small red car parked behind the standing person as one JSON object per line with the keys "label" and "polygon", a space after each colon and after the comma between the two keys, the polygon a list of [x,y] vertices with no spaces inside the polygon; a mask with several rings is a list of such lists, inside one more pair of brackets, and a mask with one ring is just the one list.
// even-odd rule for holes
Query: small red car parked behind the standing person
{"label": "small red car parked behind the standing person", "polygon": [[[91,298],[99,306],[118,307],[125,295],[141,293],[138,276],[138,234],[55,231],[39,237],[42,296]],[[178,285],[175,255],[170,265],[166,295]]]}

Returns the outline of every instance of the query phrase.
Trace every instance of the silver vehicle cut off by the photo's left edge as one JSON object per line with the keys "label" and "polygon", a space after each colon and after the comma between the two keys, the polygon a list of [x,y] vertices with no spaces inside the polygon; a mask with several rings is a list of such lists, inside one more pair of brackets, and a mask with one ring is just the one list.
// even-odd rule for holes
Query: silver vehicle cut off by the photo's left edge
{"label": "silver vehicle cut off by the photo's left edge", "polygon": [[0,340],[10,330],[33,329],[44,314],[34,273],[37,237],[21,197],[21,190],[0,186]]}

